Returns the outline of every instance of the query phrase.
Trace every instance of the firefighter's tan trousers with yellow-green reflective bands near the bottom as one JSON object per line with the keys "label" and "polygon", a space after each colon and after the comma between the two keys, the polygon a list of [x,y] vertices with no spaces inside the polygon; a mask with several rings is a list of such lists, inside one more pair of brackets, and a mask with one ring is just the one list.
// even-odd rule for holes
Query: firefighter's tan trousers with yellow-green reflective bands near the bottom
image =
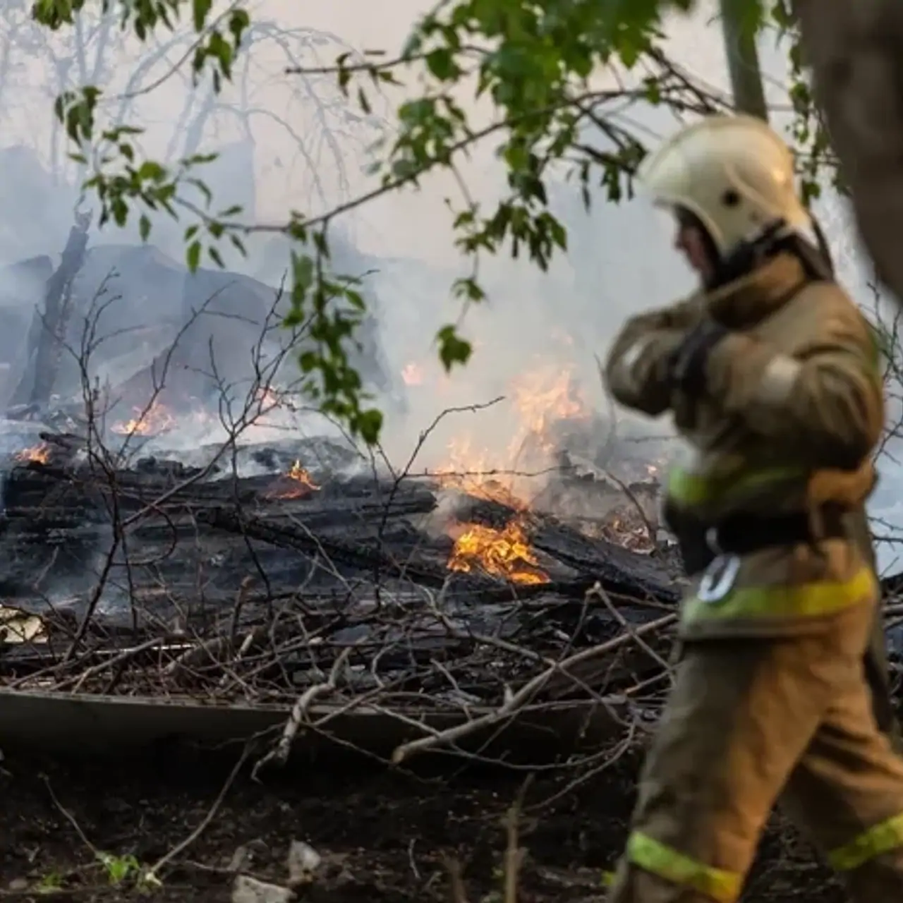
{"label": "firefighter's tan trousers with yellow-green reflective bands near the bottom", "polygon": [[857,903],[903,901],[903,759],[865,680],[871,611],[684,647],[610,903],[733,903],[778,797]]}

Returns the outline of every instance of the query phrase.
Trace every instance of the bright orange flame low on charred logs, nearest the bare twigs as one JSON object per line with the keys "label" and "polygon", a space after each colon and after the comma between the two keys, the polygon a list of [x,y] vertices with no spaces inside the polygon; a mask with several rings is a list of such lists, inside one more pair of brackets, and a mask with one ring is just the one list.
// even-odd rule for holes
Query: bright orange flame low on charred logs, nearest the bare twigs
{"label": "bright orange flame low on charred logs, nearest the bare twigs", "polygon": [[450,571],[482,571],[513,583],[548,583],[530,548],[522,517],[508,521],[503,530],[469,524],[455,540],[449,557]]}

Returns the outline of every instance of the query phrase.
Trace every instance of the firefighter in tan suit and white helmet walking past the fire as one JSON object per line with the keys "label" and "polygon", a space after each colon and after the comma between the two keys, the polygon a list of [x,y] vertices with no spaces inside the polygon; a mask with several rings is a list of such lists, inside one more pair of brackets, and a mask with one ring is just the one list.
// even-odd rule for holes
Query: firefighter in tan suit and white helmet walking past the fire
{"label": "firefighter in tan suit and white helmet walking past the fire", "polygon": [[880,603],[861,528],[884,416],[872,332],[759,119],[700,120],[638,182],[701,289],[629,320],[606,378],[620,404],[671,414],[688,454],[666,519],[709,554],[610,899],[732,903],[780,796],[852,898],[896,903],[903,759],[863,667]]}

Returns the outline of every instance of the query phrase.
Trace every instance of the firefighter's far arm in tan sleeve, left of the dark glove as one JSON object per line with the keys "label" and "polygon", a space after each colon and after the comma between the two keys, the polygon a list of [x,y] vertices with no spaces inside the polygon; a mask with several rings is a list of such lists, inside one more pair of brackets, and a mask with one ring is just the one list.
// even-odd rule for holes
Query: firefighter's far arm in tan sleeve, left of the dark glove
{"label": "firefighter's far arm in tan sleeve, left of the dark glove", "polygon": [[605,362],[605,381],[616,401],[651,416],[665,413],[672,355],[700,315],[700,303],[690,299],[625,323]]}

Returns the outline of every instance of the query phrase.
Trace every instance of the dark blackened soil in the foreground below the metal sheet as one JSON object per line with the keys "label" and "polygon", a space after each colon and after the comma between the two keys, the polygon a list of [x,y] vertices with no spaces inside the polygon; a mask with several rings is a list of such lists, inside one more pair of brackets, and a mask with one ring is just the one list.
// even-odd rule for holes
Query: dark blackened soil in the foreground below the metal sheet
{"label": "dark blackened soil in the foreground below the metal sheet", "polygon": [[[296,768],[291,780],[263,786],[244,778],[163,871],[163,888],[148,895],[134,886],[135,865],[154,864],[191,834],[228,768],[161,760],[78,766],[7,759],[2,765],[0,899],[46,900],[47,891],[58,889],[51,899],[105,903],[228,900],[228,867],[239,848],[251,856],[247,872],[279,882],[293,839],[311,843],[325,860],[304,900],[448,900],[443,857],[449,856],[461,863],[470,900],[480,901],[500,888],[502,818],[523,779],[485,771],[410,777],[366,764],[331,773]],[[521,818],[528,856],[520,903],[604,898],[600,873],[624,842],[636,768],[636,761],[622,760],[573,790],[565,789],[564,778],[535,779]],[[554,804],[530,808],[530,801],[554,795]],[[97,852],[109,854],[111,864],[100,865]],[[114,886],[117,871],[126,877]],[[804,844],[772,831],[748,899],[787,898],[841,899]]]}

